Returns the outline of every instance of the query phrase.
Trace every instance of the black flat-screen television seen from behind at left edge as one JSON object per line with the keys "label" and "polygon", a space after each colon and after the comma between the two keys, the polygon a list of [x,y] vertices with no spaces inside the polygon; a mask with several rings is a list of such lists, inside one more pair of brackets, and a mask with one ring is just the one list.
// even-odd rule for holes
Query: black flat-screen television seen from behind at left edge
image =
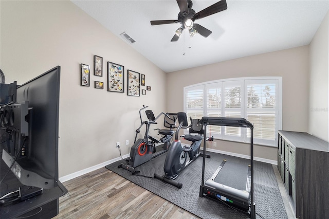
{"label": "black flat-screen television seen from behind at left edge", "polygon": [[17,86],[16,102],[2,106],[2,159],[26,186],[58,186],[60,71]]}

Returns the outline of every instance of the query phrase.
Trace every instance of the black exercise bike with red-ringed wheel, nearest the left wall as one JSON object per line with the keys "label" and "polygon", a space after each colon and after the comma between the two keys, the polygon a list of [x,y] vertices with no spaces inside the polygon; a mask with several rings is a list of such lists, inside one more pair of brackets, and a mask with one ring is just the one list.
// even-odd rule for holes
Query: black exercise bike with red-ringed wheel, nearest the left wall
{"label": "black exercise bike with red-ringed wheel, nearest the left wall", "polygon": [[[165,114],[165,113],[160,113],[157,117],[154,116],[153,112],[151,110],[145,111],[148,121],[142,121],[141,117],[141,111],[149,106],[144,106],[139,110],[139,117],[141,121],[141,125],[138,127],[136,130],[136,135],[135,135],[135,141],[134,145],[132,146],[130,150],[130,157],[126,159],[127,164],[121,163],[118,168],[123,168],[126,170],[129,170],[133,174],[138,174],[139,171],[135,170],[135,167],[141,165],[144,162],[147,162],[151,160],[152,158],[159,156],[160,154],[163,154],[168,151],[170,141],[173,137],[173,134],[175,131],[173,130],[173,127],[175,126],[175,116],[176,114]],[[165,115],[164,123],[166,127],[170,127],[170,130],[167,129],[155,129],[158,130],[158,134],[160,134],[162,137],[160,140],[152,137],[149,135],[150,131],[150,125],[151,124],[157,124],[156,120],[161,116]],[[173,116],[171,118],[170,116]],[[144,138],[139,138],[137,139],[138,133],[140,133],[140,129],[143,125],[146,125],[145,128],[145,134]],[[164,143],[163,144],[163,150],[161,151],[156,151],[156,143]]]}

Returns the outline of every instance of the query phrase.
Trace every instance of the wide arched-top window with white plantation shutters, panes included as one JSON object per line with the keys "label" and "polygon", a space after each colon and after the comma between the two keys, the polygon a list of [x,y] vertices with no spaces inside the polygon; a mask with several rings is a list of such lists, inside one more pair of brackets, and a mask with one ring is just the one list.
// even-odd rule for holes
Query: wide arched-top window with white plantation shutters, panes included
{"label": "wide arched-top window with white plantation shutters, panes included", "polygon": [[[254,143],[276,146],[282,129],[281,77],[237,78],[184,87],[184,111],[192,119],[243,117],[253,126]],[[209,125],[217,139],[250,141],[250,129]]]}

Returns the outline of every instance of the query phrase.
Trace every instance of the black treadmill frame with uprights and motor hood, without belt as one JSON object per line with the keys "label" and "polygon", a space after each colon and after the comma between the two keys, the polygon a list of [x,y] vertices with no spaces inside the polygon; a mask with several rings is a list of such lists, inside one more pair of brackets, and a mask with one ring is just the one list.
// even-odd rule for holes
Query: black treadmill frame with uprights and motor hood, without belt
{"label": "black treadmill frame with uprights and motor hood, without belt", "polygon": [[[250,128],[250,167],[247,181],[250,180],[250,188],[239,190],[225,186],[215,181],[216,176],[220,173],[226,160],[223,160],[220,167],[217,168],[213,176],[205,182],[205,157],[202,165],[202,182],[200,185],[200,197],[210,197],[222,201],[236,210],[250,215],[251,219],[256,217],[255,203],[253,202],[253,125],[244,118],[226,118],[226,117],[202,117],[200,123],[204,125],[204,136],[207,136],[207,125],[221,125],[233,127]],[[206,151],[206,141],[204,141],[204,152]],[[250,189],[250,192],[247,191]]]}

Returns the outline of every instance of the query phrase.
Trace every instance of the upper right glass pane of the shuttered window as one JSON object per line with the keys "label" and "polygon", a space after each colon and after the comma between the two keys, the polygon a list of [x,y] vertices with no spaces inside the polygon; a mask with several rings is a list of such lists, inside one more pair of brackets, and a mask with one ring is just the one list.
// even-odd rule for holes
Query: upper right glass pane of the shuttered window
{"label": "upper right glass pane of the shuttered window", "polygon": [[275,108],[275,84],[249,84],[247,92],[248,108]]}

